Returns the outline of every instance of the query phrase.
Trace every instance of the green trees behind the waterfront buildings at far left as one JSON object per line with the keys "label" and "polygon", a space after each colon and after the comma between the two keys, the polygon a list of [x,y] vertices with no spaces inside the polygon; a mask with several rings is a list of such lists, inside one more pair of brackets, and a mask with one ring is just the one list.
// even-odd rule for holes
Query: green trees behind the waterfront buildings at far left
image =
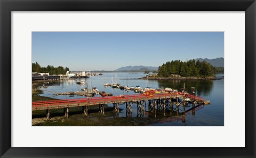
{"label": "green trees behind the waterfront buildings at far left", "polygon": [[41,73],[48,73],[50,75],[53,74],[66,74],[66,71],[69,71],[69,68],[63,68],[62,66],[58,66],[57,68],[54,68],[54,66],[46,66],[46,67],[41,67],[37,62],[32,63],[32,72],[41,72]]}

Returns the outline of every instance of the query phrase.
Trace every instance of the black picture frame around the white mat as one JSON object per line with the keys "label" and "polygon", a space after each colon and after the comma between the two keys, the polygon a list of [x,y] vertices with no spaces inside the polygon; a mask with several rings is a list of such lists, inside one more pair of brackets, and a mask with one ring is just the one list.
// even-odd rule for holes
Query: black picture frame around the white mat
{"label": "black picture frame around the white mat", "polygon": [[[254,0],[0,0],[0,9],[1,157],[255,157]],[[12,11],[245,11],[245,147],[11,147]]]}

